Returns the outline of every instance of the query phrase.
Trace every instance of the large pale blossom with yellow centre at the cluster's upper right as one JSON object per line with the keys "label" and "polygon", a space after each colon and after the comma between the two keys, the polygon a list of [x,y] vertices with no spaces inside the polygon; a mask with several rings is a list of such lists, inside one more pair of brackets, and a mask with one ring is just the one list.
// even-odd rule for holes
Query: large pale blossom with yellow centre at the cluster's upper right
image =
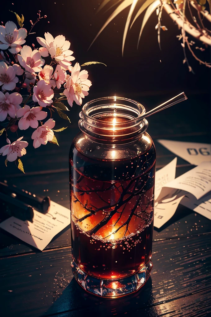
{"label": "large pale blossom with yellow centre at the cluster's upper right", "polygon": [[[71,65],[71,61],[73,61],[75,57],[71,56],[73,51],[69,49],[70,42],[65,41],[65,36],[58,35],[55,37],[55,39],[50,33],[45,33],[44,36],[45,39],[42,37],[37,37],[37,42],[46,48],[46,50],[50,53],[51,58],[55,58],[55,60],[59,62],[65,60],[65,63]],[[43,52],[46,53],[46,50]]]}

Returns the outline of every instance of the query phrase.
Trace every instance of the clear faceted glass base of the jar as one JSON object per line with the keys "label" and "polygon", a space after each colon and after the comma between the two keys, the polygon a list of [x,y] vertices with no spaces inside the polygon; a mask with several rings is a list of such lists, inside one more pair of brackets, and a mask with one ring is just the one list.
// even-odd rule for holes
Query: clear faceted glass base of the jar
{"label": "clear faceted glass base of the jar", "polygon": [[133,275],[120,279],[100,279],[83,272],[73,261],[72,273],[78,284],[87,292],[108,298],[116,298],[138,291],[148,280],[153,264],[149,261]]}

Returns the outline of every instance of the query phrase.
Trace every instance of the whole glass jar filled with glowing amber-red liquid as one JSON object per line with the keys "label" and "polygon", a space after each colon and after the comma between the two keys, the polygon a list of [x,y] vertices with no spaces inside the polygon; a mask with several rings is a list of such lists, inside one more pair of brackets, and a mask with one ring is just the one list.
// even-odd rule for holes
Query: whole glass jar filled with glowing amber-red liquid
{"label": "whole glass jar filled with glowing amber-red liquid", "polygon": [[72,271],[93,294],[137,291],[152,269],[155,148],[126,98],[85,104],[70,149]]}

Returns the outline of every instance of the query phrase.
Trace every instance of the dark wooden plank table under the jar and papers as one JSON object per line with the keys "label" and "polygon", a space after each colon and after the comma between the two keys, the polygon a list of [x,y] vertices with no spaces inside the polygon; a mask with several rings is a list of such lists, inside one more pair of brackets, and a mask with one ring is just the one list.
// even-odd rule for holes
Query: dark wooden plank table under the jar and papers
{"label": "dark wooden plank table under the jar and papers", "polygon": [[[202,112],[209,108],[208,95],[201,96],[189,95],[186,103],[149,119],[148,132],[156,146],[157,169],[175,155],[156,139],[210,142],[209,116],[203,116],[203,120],[198,116],[199,105]],[[132,98],[148,104],[148,108],[165,99],[152,95]],[[78,132],[79,111],[75,105],[70,112],[71,127],[57,134],[60,147],[48,144],[34,150],[29,146],[27,158],[23,158],[26,174],[15,167],[4,167],[1,180],[39,195],[48,194],[52,200],[69,208],[68,151]],[[56,127],[62,124],[64,126],[62,122]],[[178,157],[176,176],[193,167]],[[43,252],[1,230],[0,315],[211,316],[210,248],[211,221],[180,205],[168,223],[160,230],[154,228],[153,270],[146,285],[133,295],[105,300],[86,294],[72,276],[70,226]]]}

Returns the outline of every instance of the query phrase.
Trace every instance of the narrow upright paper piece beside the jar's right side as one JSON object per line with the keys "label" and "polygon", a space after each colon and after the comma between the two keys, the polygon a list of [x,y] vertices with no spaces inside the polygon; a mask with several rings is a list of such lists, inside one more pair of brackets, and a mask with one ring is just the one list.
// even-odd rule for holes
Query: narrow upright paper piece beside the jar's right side
{"label": "narrow upright paper piece beside the jar's right side", "polygon": [[162,167],[159,171],[155,173],[155,200],[160,195],[162,187],[175,178],[176,165],[177,158],[173,159],[170,163],[168,163],[166,166]]}

